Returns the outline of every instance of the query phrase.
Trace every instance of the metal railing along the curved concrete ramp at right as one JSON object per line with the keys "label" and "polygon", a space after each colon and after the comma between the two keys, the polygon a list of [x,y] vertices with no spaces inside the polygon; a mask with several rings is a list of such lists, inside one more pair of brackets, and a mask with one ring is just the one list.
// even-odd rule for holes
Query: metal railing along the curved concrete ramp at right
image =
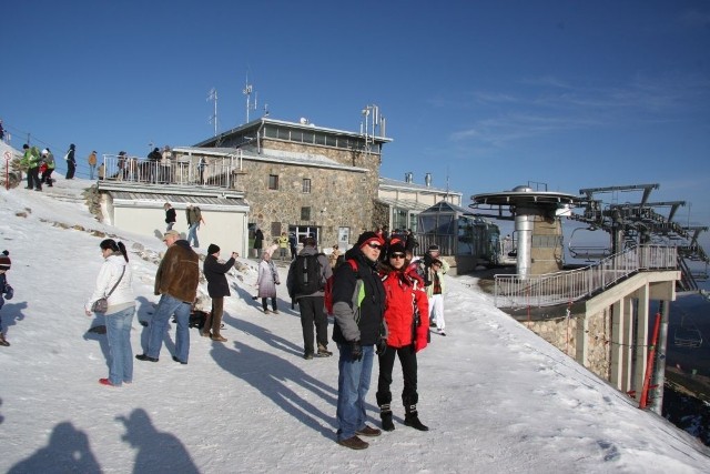
{"label": "metal railing along the curved concrete ramp at right", "polygon": [[495,276],[497,307],[552,306],[592,296],[639,271],[676,270],[677,249],[640,245],[584,269],[542,275]]}

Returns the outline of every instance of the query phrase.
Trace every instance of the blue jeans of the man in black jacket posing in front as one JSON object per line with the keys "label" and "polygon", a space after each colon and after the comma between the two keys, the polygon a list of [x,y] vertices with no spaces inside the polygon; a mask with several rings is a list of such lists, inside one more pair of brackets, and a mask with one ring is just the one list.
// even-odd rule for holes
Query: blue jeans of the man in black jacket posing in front
{"label": "blue jeans of the man in black jacket posing in front", "polygon": [[349,344],[337,344],[337,438],[347,440],[365,427],[365,396],[369,390],[375,347],[363,346],[363,359],[353,360]]}

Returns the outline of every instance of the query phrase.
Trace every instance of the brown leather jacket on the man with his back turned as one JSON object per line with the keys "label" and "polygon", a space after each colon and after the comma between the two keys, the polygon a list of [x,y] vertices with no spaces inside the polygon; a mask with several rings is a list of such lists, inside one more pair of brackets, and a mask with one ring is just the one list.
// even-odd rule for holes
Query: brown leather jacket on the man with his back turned
{"label": "brown leather jacket on the man with his back turned", "polygon": [[155,273],[155,294],[169,294],[186,303],[197,296],[200,258],[186,240],[179,240],[168,248]]}

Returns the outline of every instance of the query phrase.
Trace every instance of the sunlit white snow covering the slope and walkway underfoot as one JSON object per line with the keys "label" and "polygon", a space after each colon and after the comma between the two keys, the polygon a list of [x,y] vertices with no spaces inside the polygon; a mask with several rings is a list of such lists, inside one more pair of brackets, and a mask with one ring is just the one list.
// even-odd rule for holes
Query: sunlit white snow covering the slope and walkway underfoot
{"label": "sunlit white snow covering the slope and walkway underfoot", "polygon": [[[82,310],[99,242],[105,233],[130,251],[134,353],[148,335],[138,320],[158,301],[164,244],[98,222],[81,199],[89,181],[57,180],[41,193],[0,190],[0,251],[10,251],[16,290],[0,312],[12,344],[0,347],[0,472],[710,472],[707,447],[498,311],[471,276],[448,278],[448,335],[432,334],[419,353],[418,409],[430,431],[404,426],[395,365],[396,430],[365,451],[335,443],[335,344],[333,357],[302,359],[284,285],[278,315],[251,299],[255,260],[240,259],[245,270],[230,274],[229,342],[191,330],[181,365],[171,327],[158,363],[135,361],[133,384],[99,385],[106,340],[88,332],[102,322]],[[367,402],[378,426],[376,377],[375,363]]]}

